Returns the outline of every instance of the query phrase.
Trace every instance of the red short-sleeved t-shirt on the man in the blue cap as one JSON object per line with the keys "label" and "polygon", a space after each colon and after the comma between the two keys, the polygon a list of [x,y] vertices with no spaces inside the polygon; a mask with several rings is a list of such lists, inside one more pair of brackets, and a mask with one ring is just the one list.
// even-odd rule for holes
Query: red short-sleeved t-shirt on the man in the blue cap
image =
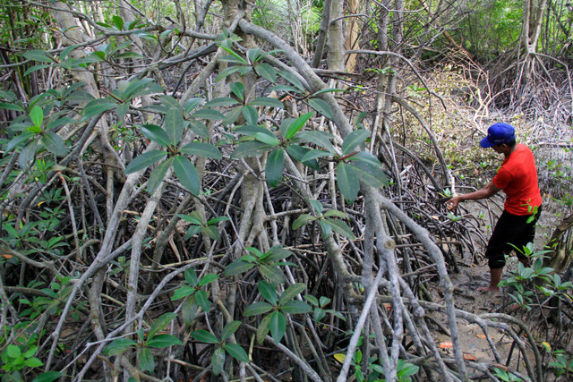
{"label": "red short-sleeved t-shirt on the man in the blue cap", "polygon": [[517,144],[515,151],[501,164],[492,182],[505,192],[504,208],[510,214],[531,215],[535,206],[541,206],[534,154],[525,145]]}

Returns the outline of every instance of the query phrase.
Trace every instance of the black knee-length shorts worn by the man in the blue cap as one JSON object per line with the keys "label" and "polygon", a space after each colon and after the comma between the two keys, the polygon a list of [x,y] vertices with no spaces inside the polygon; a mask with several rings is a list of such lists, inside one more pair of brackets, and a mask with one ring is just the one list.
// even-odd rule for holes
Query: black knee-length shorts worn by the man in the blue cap
{"label": "black knee-length shorts worn by the man in the blue cap", "polygon": [[[498,223],[493,229],[490,242],[487,244],[487,250],[485,250],[485,257],[488,259],[488,265],[491,268],[505,266],[506,255],[515,250],[515,247],[523,250],[527,243],[534,241],[535,224],[540,215],[541,206],[537,208],[535,219],[527,223],[527,219],[531,215],[517,216],[510,214],[505,209],[503,210]],[[526,257],[519,250],[516,250],[517,259],[525,259]]]}

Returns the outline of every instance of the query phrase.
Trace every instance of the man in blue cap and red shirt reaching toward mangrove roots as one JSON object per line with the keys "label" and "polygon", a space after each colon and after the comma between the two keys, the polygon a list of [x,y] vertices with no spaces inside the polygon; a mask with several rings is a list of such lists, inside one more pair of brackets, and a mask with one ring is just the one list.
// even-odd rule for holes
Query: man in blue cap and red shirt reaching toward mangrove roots
{"label": "man in blue cap and red shirt reaching toward mangrove roots", "polygon": [[[478,191],[456,195],[449,199],[448,209],[458,207],[463,200],[487,199],[503,190],[506,194],[503,212],[493,229],[492,237],[485,250],[490,267],[490,285],[478,291],[499,291],[505,256],[514,246],[521,250],[535,238],[535,224],[541,214],[541,193],[537,185],[537,170],[533,153],[525,145],[518,144],[515,130],[508,123],[495,123],[487,130],[487,137],[481,146],[492,148],[505,157],[492,182]],[[517,259],[529,265],[529,259],[517,251]]]}

